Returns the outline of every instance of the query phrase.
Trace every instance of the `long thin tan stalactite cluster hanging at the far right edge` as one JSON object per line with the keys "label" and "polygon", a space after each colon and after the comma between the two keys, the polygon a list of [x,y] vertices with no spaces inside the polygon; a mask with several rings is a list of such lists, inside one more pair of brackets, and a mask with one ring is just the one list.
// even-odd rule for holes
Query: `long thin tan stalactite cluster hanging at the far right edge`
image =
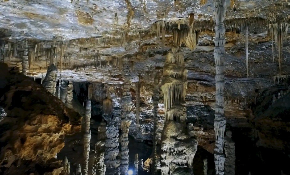
{"label": "long thin tan stalactite cluster hanging at the far right edge", "polygon": [[272,37],[272,58],[274,61],[274,41],[275,41],[276,50],[278,47],[278,62],[279,62],[279,70],[280,70],[280,75],[281,75],[283,39],[288,34],[289,23],[274,23],[274,24],[269,24],[268,26],[269,26],[269,33]]}

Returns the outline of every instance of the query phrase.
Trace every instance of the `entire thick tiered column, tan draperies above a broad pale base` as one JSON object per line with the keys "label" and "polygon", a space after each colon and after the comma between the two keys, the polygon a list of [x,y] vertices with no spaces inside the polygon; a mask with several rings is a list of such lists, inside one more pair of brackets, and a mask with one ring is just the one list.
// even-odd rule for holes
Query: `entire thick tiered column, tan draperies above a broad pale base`
{"label": "entire thick tiered column, tan draperies above a broad pale base", "polygon": [[173,49],[173,52],[167,53],[161,82],[165,110],[165,125],[161,137],[162,174],[189,173],[197,151],[197,140],[185,131],[187,69],[184,55],[181,50]]}

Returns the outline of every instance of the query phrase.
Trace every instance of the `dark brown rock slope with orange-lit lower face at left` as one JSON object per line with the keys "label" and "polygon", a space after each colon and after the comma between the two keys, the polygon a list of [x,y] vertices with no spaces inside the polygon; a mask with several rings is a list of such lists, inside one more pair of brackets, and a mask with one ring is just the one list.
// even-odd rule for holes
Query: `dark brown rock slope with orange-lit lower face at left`
{"label": "dark brown rock slope with orange-lit lower face at left", "polygon": [[0,95],[7,113],[0,123],[0,164],[10,168],[17,160],[19,165],[21,160],[51,161],[64,147],[65,135],[80,131],[80,115],[30,78],[13,72],[7,78]]}

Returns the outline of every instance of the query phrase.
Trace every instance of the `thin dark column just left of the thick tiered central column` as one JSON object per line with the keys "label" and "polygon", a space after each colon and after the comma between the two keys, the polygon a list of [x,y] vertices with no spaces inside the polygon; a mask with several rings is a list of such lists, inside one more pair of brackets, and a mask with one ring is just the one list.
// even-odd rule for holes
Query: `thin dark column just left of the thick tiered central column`
{"label": "thin dark column just left of the thick tiered central column", "polygon": [[154,124],[153,124],[153,168],[152,168],[152,174],[157,173],[157,167],[160,166],[160,158],[157,155],[157,130],[158,130],[158,118],[157,118],[157,113],[158,113],[158,103],[159,103],[159,87],[158,87],[158,82],[159,79],[157,75],[154,78],[154,89],[153,89],[153,96],[152,96],[152,101],[153,101],[153,118],[154,118]]}

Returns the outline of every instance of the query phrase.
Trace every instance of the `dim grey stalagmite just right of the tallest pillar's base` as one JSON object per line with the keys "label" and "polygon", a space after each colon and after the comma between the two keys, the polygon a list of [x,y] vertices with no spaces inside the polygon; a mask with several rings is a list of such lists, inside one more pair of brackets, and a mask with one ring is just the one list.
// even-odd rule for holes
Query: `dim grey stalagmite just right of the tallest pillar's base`
{"label": "dim grey stalagmite just right of the tallest pillar's base", "polygon": [[224,173],[235,175],[235,142],[232,141],[232,132],[227,131],[224,137],[224,153],[225,153],[225,161],[224,161]]}

